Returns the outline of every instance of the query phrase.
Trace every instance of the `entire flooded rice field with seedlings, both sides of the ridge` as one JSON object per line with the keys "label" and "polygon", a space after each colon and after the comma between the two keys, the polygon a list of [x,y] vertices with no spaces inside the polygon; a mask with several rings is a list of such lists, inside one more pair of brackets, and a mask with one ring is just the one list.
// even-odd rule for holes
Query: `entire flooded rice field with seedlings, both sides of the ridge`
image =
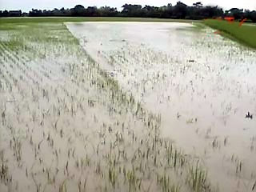
{"label": "entire flooded rice field with seedlings, both sides of the ridge", "polygon": [[186,23],[0,26],[0,191],[256,190],[255,51]]}

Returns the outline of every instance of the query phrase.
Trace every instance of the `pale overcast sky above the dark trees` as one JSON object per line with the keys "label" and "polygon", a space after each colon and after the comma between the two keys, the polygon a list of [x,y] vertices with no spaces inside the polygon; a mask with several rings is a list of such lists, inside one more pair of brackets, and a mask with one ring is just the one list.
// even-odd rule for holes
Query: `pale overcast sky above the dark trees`
{"label": "pale overcast sky above the dark trees", "polygon": [[[198,0],[199,1],[199,0]],[[118,10],[125,3],[140,4],[142,6],[164,6],[168,3],[176,4],[176,0],[0,0],[0,10],[28,11],[32,8],[51,10],[53,8],[72,8],[75,5],[82,6],[113,6]],[[182,0],[181,2],[191,6],[196,0]],[[256,0],[201,0],[203,5],[218,5],[224,10],[233,7],[256,10]]]}

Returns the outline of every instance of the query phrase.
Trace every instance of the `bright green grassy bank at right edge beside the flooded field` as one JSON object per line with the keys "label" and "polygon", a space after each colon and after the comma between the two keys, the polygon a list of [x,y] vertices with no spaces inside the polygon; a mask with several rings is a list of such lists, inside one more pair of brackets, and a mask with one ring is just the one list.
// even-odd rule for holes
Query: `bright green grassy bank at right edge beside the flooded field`
{"label": "bright green grassy bank at right edge beside the flooded field", "polygon": [[239,22],[226,22],[214,19],[207,19],[204,23],[206,26],[220,30],[226,38],[240,42],[242,45],[256,48],[256,26],[239,26]]}

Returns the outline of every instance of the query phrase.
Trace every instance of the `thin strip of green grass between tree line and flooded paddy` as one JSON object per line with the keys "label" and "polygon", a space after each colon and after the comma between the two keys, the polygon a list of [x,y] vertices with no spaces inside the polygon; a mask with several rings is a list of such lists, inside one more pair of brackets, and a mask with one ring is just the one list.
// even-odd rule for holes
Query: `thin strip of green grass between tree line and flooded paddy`
{"label": "thin strip of green grass between tree line and flooded paddy", "polygon": [[42,17],[42,18],[0,18],[2,23],[39,23],[39,22],[200,22],[198,20],[167,18],[109,18],[109,17]]}

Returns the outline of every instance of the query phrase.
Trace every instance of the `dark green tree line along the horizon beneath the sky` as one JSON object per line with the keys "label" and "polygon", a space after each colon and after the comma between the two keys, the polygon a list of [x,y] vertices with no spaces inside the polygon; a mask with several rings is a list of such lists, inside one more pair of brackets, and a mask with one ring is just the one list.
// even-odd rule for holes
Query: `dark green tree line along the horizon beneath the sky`
{"label": "dark green tree line along the horizon beneath the sky", "polygon": [[29,13],[21,10],[0,10],[0,17],[139,17],[139,18],[179,18],[179,19],[204,19],[218,17],[234,17],[235,19],[247,18],[248,21],[256,22],[256,11],[232,8],[222,10],[218,6],[203,6],[202,2],[195,2],[193,6],[187,6],[183,2],[176,5],[169,3],[167,6],[141,6],[125,4],[122,10],[110,6],[74,6],[72,9],[60,10],[37,10],[32,9]]}

